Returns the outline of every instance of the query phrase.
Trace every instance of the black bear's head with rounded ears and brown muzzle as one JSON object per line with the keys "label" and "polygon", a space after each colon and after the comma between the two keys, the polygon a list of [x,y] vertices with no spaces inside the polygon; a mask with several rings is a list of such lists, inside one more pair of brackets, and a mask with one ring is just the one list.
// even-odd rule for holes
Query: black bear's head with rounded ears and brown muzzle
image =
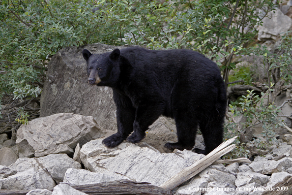
{"label": "black bear's head with rounded ears and brown muzzle", "polygon": [[82,51],[87,62],[88,83],[90,85],[110,86],[117,82],[119,75],[119,49],[104,54],[91,54],[87,49]]}

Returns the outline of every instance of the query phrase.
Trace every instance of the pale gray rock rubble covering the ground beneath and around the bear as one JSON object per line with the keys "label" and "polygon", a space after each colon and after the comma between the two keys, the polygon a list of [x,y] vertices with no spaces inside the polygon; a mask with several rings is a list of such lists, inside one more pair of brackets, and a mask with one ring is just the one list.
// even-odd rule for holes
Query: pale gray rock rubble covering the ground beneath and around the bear
{"label": "pale gray rock rubble covering the ground beneath and around the bear", "polygon": [[[88,141],[90,130],[97,132],[98,136],[107,133],[97,128],[92,117],[67,113],[45,118],[46,120],[35,119],[26,127],[21,127],[18,133],[18,140],[21,141],[16,143],[21,147],[23,144],[19,145],[19,143],[23,140],[27,140],[27,145],[29,145],[28,143],[33,143],[31,140],[40,140],[40,137],[44,140],[44,137],[52,136],[50,142],[35,141],[30,145],[33,148],[31,151],[34,151],[32,153],[34,157],[22,157],[24,150],[16,154],[10,148],[4,147],[5,150],[9,149],[10,153],[16,157],[19,155],[20,158],[17,157],[14,162],[9,162],[10,164],[0,165],[2,190],[27,190],[29,191],[27,195],[83,195],[83,192],[70,186],[120,179],[148,182],[159,186],[183,168],[204,157],[202,154],[188,150],[161,153],[146,142],[139,144],[123,142],[118,147],[109,149],[102,145],[103,138],[93,139],[87,143],[82,142]],[[65,122],[58,126],[57,119],[64,119]],[[156,126],[158,129],[167,128],[167,125],[161,125],[167,124],[163,122],[165,120],[167,119],[156,122],[148,133],[157,134],[159,131]],[[36,126],[36,121],[41,121],[40,126]],[[44,128],[47,129],[44,130]],[[72,133],[68,133],[66,129],[72,130]],[[81,134],[81,130],[89,132]],[[65,131],[64,134],[67,137],[56,136],[60,131]],[[167,132],[166,129],[165,131]],[[169,129],[169,132],[173,131]],[[7,135],[1,135],[4,140],[5,136]],[[203,146],[200,135],[197,137],[197,142],[197,145]],[[61,143],[70,148],[72,145],[76,146],[75,154],[73,155],[72,152],[66,154],[66,151],[57,149],[47,150],[51,154],[46,156],[35,155],[42,154],[36,151],[45,151],[43,148],[49,147],[47,143]],[[71,149],[73,151],[75,148]],[[173,192],[175,195],[260,195],[267,188],[292,177],[290,153],[292,153],[292,146],[279,140],[271,152],[264,157],[256,157],[250,164],[235,162],[229,165],[211,165],[174,189]],[[52,189],[53,191],[50,191]]]}

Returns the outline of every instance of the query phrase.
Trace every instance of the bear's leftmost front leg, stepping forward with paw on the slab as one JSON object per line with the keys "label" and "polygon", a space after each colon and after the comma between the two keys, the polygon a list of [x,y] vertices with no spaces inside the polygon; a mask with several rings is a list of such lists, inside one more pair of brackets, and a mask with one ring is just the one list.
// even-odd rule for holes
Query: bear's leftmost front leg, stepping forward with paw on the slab
{"label": "bear's leftmost front leg, stepping forward with paw on the slab", "polygon": [[108,148],[114,148],[127,139],[133,131],[136,109],[132,106],[131,100],[114,91],[114,101],[117,106],[117,133],[102,140]]}

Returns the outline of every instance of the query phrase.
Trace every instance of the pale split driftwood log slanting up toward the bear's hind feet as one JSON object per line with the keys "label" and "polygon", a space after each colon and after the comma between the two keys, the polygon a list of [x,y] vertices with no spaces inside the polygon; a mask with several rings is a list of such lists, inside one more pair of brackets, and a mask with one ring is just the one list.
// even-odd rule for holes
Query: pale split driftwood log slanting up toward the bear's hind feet
{"label": "pale split driftwood log slanting up toward the bear's hind feet", "polygon": [[209,165],[211,165],[213,162],[215,162],[217,159],[232,151],[236,146],[235,144],[232,144],[231,146],[229,145],[234,142],[236,138],[237,136],[223,142],[220,146],[215,148],[203,159],[195,162],[189,167],[184,168],[182,171],[170,178],[168,181],[164,182],[159,187],[166,190],[173,190],[183,182],[191,179],[192,177],[203,171],[205,168],[207,168]]}

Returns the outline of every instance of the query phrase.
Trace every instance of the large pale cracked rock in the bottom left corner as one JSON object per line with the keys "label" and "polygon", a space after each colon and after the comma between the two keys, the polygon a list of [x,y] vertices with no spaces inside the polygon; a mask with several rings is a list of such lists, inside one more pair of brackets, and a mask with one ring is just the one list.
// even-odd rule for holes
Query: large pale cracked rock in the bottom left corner
{"label": "large pale cracked rock in the bottom left corner", "polygon": [[50,173],[36,158],[21,158],[9,168],[17,170],[15,175],[0,179],[2,189],[35,190],[55,187],[55,181]]}

